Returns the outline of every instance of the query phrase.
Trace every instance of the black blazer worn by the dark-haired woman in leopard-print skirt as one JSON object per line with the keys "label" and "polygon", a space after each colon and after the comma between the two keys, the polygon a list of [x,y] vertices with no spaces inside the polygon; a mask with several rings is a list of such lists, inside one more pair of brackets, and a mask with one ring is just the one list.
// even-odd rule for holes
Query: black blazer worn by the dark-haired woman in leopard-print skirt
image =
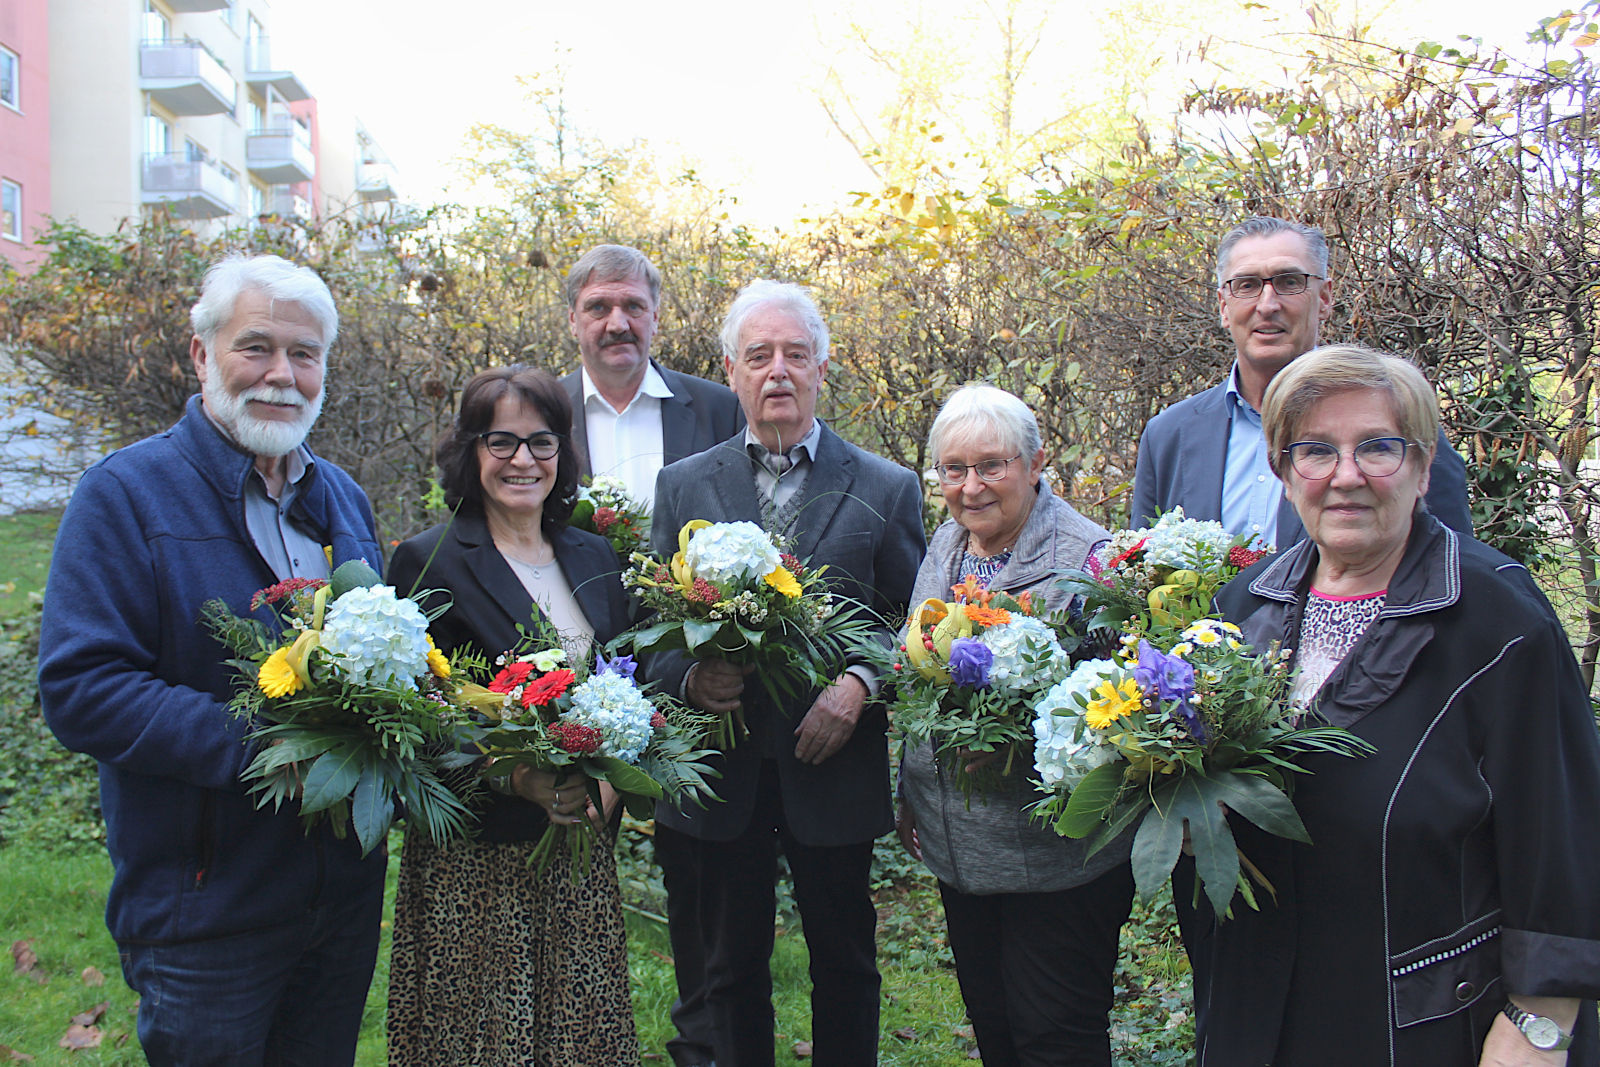
{"label": "black blazer worn by the dark-haired woman in leopard-print skirt", "polygon": [[[595,641],[610,641],[632,625],[632,603],[622,590],[622,565],[611,542],[570,526],[558,528],[550,542],[573,598],[595,629]],[[493,662],[522,640],[517,624],[533,629],[538,613],[533,597],[494,547],[483,514],[467,509],[453,522],[400,542],[389,560],[387,581],[402,597],[434,590],[418,597],[424,611],[450,601],[450,609],[429,627],[445,654],[470,645]],[[544,832],[544,811],[520,797],[490,793],[486,805],[478,840],[526,841]]]}

